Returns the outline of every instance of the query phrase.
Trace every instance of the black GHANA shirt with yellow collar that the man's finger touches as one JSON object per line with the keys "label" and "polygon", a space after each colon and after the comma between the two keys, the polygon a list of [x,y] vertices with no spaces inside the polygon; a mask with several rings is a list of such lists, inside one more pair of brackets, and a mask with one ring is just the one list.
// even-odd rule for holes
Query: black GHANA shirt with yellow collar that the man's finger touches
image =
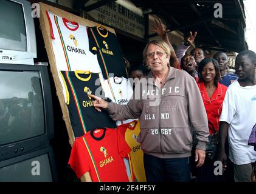
{"label": "black GHANA shirt with yellow collar that the man's finger touches", "polygon": [[99,81],[98,73],[61,71],[61,77],[66,88],[69,118],[75,137],[97,127],[116,128],[116,122],[109,118],[108,112],[98,112],[93,106],[93,99],[88,94],[105,98]]}

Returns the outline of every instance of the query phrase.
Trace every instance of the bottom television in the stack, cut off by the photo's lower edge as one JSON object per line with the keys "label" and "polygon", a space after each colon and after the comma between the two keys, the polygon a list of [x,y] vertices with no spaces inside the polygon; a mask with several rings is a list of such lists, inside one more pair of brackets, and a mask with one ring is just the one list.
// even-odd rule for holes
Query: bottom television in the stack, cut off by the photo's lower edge
{"label": "bottom television in the stack, cut off by the photo's lower edge", "polygon": [[58,181],[52,147],[0,162],[0,182]]}

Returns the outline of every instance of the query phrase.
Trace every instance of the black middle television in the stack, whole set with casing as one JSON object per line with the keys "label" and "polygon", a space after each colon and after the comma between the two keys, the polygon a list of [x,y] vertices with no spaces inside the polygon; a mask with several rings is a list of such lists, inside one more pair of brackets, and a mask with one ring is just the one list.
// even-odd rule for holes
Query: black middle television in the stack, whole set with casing
{"label": "black middle television in the stack, whole set with casing", "polygon": [[47,147],[54,137],[47,66],[0,64],[0,161]]}

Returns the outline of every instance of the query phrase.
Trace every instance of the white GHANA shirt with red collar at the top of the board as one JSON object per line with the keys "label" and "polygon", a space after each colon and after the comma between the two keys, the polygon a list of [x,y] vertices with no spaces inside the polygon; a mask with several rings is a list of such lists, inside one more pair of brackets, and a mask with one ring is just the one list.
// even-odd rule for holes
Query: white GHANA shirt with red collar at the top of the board
{"label": "white GHANA shirt with red collar at the top of the board", "polygon": [[[92,73],[100,73],[102,70],[97,59],[89,50],[89,39],[86,27],[77,22],[68,21],[65,18],[46,11],[50,25],[52,47],[54,49],[55,64],[58,72],[84,70]],[[93,49],[93,48],[92,48]],[[58,73],[63,95],[66,100],[66,91]]]}

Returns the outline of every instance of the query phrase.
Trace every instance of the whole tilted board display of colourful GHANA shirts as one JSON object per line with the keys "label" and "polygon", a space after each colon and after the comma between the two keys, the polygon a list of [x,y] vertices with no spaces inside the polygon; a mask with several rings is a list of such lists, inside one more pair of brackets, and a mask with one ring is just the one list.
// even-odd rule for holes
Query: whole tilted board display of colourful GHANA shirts
{"label": "whole tilted board display of colourful GHANA shirts", "polygon": [[[81,25],[85,22],[70,21],[49,10],[44,14],[50,27],[51,59],[54,61],[51,60],[50,65],[53,63],[57,69],[69,110],[65,116],[69,116],[75,136],[75,141],[71,139],[74,144],[69,165],[78,178],[89,172],[92,181],[144,181],[142,173],[133,172],[137,163],[131,152],[134,145],[128,140],[130,130],[136,136],[139,131],[131,125],[116,129],[117,124],[133,120],[112,121],[106,110],[95,110],[94,99],[88,96],[92,94],[117,104],[127,104],[133,94],[116,35],[101,25]],[[57,73],[54,76],[56,78]],[[59,83],[55,85],[58,87]],[[124,161],[127,159],[131,166],[126,170]]]}

